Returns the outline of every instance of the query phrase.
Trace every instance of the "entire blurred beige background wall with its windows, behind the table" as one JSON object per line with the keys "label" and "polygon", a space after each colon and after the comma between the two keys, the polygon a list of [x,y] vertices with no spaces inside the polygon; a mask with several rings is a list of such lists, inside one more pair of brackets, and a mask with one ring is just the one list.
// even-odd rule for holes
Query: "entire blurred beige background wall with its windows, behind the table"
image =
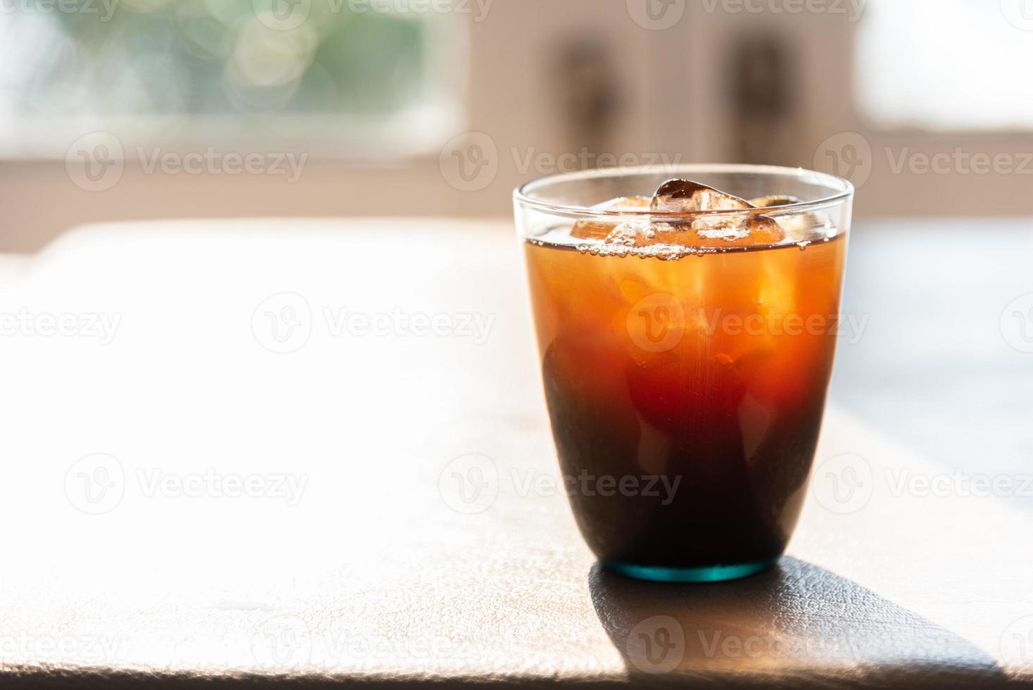
{"label": "entire blurred beige background wall with its windows, behind the table", "polygon": [[0,251],[120,219],[510,213],[599,164],[1033,210],[1030,0],[0,0]]}

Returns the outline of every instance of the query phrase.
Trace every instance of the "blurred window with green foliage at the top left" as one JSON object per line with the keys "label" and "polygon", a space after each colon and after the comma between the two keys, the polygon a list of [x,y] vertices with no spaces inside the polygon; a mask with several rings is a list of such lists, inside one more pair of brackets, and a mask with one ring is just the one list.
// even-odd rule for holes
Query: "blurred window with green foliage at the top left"
{"label": "blurred window with green foliage at the top left", "polygon": [[0,156],[61,156],[91,131],[314,157],[430,150],[461,116],[461,32],[408,6],[0,0]]}

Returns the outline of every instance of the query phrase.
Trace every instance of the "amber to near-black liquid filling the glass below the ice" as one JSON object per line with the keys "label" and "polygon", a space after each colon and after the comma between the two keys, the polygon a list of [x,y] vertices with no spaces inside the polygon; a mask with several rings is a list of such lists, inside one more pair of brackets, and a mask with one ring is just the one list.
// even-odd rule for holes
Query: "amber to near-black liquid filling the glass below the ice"
{"label": "amber to near-black liquid filling the glass below the ice", "polygon": [[[667,567],[781,555],[821,425],[846,238],[674,261],[525,252],[561,470],[636,478],[611,496],[571,484],[595,554]],[[677,490],[647,495],[652,476]]]}

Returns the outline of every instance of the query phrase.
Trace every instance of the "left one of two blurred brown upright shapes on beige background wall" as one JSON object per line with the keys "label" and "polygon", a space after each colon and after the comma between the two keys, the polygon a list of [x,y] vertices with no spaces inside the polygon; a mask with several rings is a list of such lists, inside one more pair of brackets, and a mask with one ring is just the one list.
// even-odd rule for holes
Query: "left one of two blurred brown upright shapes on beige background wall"
{"label": "left one of two blurred brown upright shapes on beige background wall", "polygon": [[[617,70],[608,48],[600,40],[564,40],[560,44],[553,87],[563,124],[563,150],[595,167],[600,154],[619,153],[612,145],[621,104]],[[590,155],[581,158],[583,152]]]}

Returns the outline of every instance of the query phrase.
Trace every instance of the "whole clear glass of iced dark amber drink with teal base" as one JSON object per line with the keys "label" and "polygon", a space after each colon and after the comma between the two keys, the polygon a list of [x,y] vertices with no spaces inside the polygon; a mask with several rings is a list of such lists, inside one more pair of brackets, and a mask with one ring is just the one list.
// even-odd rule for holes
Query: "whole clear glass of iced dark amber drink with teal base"
{"label": "whole clear glass of iced dark amber drink with teal base", "polygon": [[518,190],[561,473],[606,567],[714,581],[782,555],[833,367],[851,195],[750,166]]}

